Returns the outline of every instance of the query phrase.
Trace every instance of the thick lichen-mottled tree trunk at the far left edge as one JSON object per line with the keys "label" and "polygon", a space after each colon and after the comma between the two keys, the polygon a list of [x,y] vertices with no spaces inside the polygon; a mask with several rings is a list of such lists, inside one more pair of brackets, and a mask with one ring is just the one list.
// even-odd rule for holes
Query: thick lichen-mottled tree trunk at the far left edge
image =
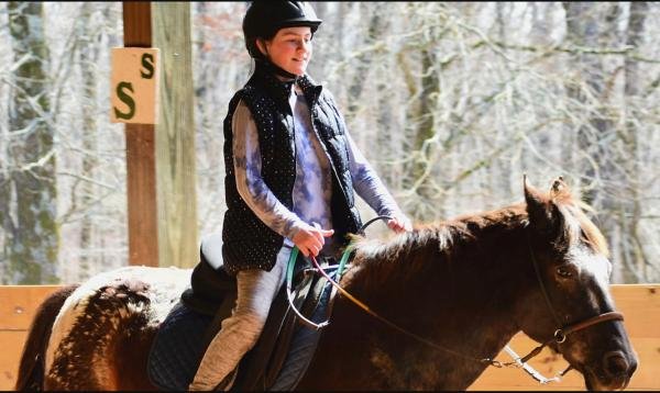
{"label": "thick lichen-mottled tree trunk at the far left edge", "polygon": [[[41,2],[7,3],[13,59],[10,143],[2,181],[8,277],[15,283],[56,282],[58,228],[48,49]],[[12,203],[15,209],[12,209]],[[13,213],[13,214],[12,214]]]}

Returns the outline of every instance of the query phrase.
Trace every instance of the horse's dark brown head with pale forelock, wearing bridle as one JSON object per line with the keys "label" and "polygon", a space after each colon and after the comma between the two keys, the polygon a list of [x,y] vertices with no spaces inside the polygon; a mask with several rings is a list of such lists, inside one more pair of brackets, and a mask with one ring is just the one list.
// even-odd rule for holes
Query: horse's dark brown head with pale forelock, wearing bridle
{"label": "horse's dark brown head with pale forelock, wearing bridle", "polygon": [[[532,294],[518,314],[525,334],[562,353],[588,390],[625,388],[637,356],[609,293],[605,239],[562,178],[548,194],[525,179]],[[556,332],[561,329],[558,334]]]}

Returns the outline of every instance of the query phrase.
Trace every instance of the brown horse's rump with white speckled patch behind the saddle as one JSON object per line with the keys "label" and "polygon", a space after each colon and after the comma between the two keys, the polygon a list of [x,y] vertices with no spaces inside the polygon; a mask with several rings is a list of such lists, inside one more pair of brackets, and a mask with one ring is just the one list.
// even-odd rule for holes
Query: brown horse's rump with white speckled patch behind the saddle
{"label": "brown horse's rump with white speckled patch behind the saddle", "polygon": [[150,389],[144,378],[160,323],[190,282],[189,269],[125,267],[92,277],[53,325],[45,388]]}

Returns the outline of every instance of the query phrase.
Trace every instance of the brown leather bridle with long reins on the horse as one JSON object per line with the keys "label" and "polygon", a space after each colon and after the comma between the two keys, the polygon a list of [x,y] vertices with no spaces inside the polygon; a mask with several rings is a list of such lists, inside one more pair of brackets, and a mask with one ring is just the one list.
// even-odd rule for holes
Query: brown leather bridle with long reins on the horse
{"label": "brown leather bridle with long reins on the horse", "polygon": [[[376,220],[388,220],[388,216],[377,216],[371,221],[369,221],[367,223],[365,223],[362,226],[362,229],[364,229],[369,224],[373,223]],[[363,232],[363,231],[362,231]],[[529,236],[527,234],[527,236]],[[537,259],[535,257],[535,252],[534,249],[531,248],[531,243],[529,240],[529,237],[527,237],[527,245],[529,247],[529,254],[531,257],[531,261],[534,265],[534,269],[536,272],[536,277],[539,283],[539,287],[541,289],[541,293],[543,294],[543,299],[546,300],[546,303],[548,305],[548,308],[550,310],[550,313],[552,314],[552,317],[554,318],[554,322],[557,323],[557,326],[562,326],[561,321],[559,319],[557,312],[554,311],[554,307],[552,306],[552,302],[550,301],[550,295],[548,294],[548,291],[546,289],[546,285],[543,284],[543,280],[541,278],[541,273],[538,267],[538,262]],[[409,332],[400,326],[398,326],[397,324],[393,323],[392,321],[381,316],[378,313],[374,312],[373,310],[371,310],[366,304],[364,304],[363,302],[361,302],[360,300],[358,300],[355,296],[353,296],[351,293],[349,293],[346,290],[344,290],[341,285],[339,285],[339,281],[341,279],[341,274],[343,273],[343,268],[345,266],[346,260],[349,259],[349,255],[353,251],[353,247],[352,245],[349,245],[346,247],[346,249],[344,250],[344,254],[341,258],[341,262],[339,263],[339,268],[337,268],[336,270],[336,277],[337,279],[333,280],[332,278],[330,278],[330,276],[328,276],[328,273],[323,270],[322,267],[319,266],[319,263],[317,262],[315,257],[311,257],[311,261],[312,265],[316,268],[316,272],[320,273],[321,276],[323,276],[326,278],[326,280],[328,280],[328,282],[330,282],[330,284],[332,284],[332,287],[334,287],[339,292],[341,292],[343,295],[345,295],[351,302],[353,302],[355,305],[358,305],[360,308],[362,308],[363,311],[365,311],[367,314],[374,316],[376,319],[383,322],[384,324],[386,324],[387,326],[409,336],[415,338],[416,340],[424,343],[426,345],[428,345],[431,348],[435,348],[437,350],[443,351],[443,352],[449,352],[452,353],[454,356],[464,358],[464,359],[470,359],[470,360],[474,360],[477,361],[480,363],[485,363],[486,366],[493,366],[496,368],[504,368],[504,367],[515,367],[515,368],[525,368],[525,371],[527,371],[532,378],[535,378],[536,380],[538,380],[541,383],[547,383],[549,381],[552,381],[553,379],[546,379],[542,375],[539,375],[538,372],[536,372],[536,370],[528,368],[526,362],[528,360],[530,360],[531,358],[536,357],[537,355],[539,355],[541,352],[541,350],[547,347],[548,345],[556,343],[556,344],[562,344],[566,340],[566,337],[575,332],[585,329],[590,326],[603,323],[603,322],[607,322],[607,321],[624,321],[624,315],[622,313],[618,312],[607,312],[607,313],[603,313],[603,314],[598,314],[596,316],[586,318],[584,321],[578,322],[578,323],[573,323],[571,325],[564,325],[562,327],[559,327],[558,329],[554,330],[553,337],[547,341],[544,341],[543,344],[541,344],[540,346],[536,347],[535,349],[532,349],[528,355],[524,356],[524,357],[517,357],[515,358],[514,361],[498,361],[495,360],[493,358],[475,358],[475,357],[471,357],[468,355],[464,355],[462,352],[458,352],[455,350],[452,350],[450,348],[447,348],[444,346],[440,346],[427,338],[424,338],[413,332]],[[314,323],[309,319],[307,319],[305,316],[302,316],[302,314],[296,310],[296,307],[294,306],[293,303],[293,294],[290,291],[290,282],[292,282],[292,267],[293,263],[295,262],[295,259],[297,258],[298,255],[298,248],[294,247],[292,250],[292,256],[289,258],[289,268],[287,269],[287,292],[288,292],[288,297],[289,297],[289,304],[292,306],[292,308],[294,310],[294,312],[298,315],[298,317],[300,317],[301,322],[315,329],[321,329],[323,327],[326,327],[329,324],[329,321],[324,321],[320,324]],[[513,351],[510,351],[513,352]],[[509,352],[509,353],[510,353]],[[513,352],[515,353],[515,352]],[[531,371],[530,371],[531,369]],[[562,377],[563,374],[565,374],[569,370],[572,369],[572,366],[569,366],[564,371],[560,372],[558,374],[558,377]],[[557,378],[556,378],[557,380]]]}

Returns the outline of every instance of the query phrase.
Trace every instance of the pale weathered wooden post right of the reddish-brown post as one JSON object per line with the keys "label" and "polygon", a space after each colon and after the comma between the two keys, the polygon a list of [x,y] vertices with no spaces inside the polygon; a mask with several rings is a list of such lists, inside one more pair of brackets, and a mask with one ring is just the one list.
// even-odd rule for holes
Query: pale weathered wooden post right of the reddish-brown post
{"label": "pale weathered wooden post right of the reddish-brown post", "polygon": [[152,5],[153,45],[161,50],[156,166],[161,266],[199,260],[190,3]]}

